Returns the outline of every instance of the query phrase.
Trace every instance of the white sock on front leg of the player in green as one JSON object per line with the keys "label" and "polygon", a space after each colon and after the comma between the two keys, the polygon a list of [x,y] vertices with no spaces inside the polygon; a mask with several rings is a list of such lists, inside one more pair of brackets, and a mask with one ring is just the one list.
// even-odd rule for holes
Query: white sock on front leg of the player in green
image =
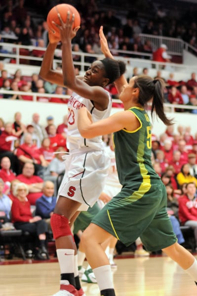
{"label": "white sock on front leg of the player in green", "polygon": [[93,269],[100,291],[114,289],[113,276],[110,265],[103,265]]}

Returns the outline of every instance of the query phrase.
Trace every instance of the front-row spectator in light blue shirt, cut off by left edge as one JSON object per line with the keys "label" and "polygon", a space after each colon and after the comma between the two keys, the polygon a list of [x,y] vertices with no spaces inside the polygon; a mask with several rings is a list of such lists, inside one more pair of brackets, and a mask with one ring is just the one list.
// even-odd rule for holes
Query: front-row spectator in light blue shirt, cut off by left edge
{"label": "front-row spectator in light blue shirt, cut off by left edge", "polygon": [[10,220],[11,199],[3,193],[4,182],[0,178],[0,221],[8,222]]}

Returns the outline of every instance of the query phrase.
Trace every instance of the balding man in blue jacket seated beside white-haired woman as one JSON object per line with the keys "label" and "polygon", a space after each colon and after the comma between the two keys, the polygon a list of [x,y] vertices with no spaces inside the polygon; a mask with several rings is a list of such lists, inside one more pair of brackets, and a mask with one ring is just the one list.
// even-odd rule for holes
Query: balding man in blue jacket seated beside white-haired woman
{"label": "balding man in blue jacket seated beside white-haired woman", "polygon": [[45,181],[43,184],[43,194],[36,201],[36,216],[44,219],[48,225],[48,230],[51,231],[50,218],[55,209],[57,198],[54,196],[54,184],[51,181]]}

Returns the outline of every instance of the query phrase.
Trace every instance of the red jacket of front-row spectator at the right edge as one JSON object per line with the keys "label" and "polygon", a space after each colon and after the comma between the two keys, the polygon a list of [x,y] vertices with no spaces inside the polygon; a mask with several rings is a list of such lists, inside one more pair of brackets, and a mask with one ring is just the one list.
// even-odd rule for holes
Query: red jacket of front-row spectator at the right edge
{"label": "red jacket of front-row spectator at the right edge", "polygon": [[197,221],[197,199],[189,199],[187,195],[179,197],[179,220],[185,223],[188,220]]}

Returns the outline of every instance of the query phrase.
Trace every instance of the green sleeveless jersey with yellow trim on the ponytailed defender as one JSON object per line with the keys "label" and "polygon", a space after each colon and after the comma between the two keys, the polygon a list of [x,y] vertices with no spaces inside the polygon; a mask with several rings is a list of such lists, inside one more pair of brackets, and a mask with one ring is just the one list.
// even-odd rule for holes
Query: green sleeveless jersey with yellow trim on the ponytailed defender
{"label": "green sleeveless jersey with yellow trim on the ponytailed defender", "polygon": [[120,184],[138,190],[140,184],[151,185],[160,179],[152,162],[151,122],[147,112],[139,107],[129,109],[140,127],[132,132],[122,129],[114,133],[115,153]]}

